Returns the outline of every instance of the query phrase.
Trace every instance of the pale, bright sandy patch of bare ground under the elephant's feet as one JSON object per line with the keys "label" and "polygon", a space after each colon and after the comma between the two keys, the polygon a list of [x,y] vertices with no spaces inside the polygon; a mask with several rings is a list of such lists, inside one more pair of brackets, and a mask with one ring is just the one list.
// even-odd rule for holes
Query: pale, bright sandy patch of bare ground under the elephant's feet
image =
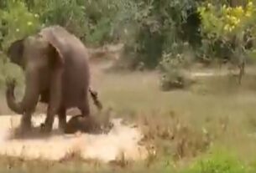
{"label": "pale, bright sandy patch of bare ground under the elephant's feet", "polygon": [[[70,152],[79,152],[84,159],[97,159],[104,162],[116,160],[123,153],[128,160],[146,157],[146,150],[138,145],[143,135],[132,125],[123,125],[122,120],[112,120],[113,128],[102,135],[50,135],[47,138],[9,139],[11,129],[19,125],[21,116],[1,115],[0,155],[23,157],[25,160],[61,160]],[[68,117],[68,120],[71,117]],[[33,123],[38,126],[44,116],[34,116]],[[58,121],[55,119],[54,129]]]}

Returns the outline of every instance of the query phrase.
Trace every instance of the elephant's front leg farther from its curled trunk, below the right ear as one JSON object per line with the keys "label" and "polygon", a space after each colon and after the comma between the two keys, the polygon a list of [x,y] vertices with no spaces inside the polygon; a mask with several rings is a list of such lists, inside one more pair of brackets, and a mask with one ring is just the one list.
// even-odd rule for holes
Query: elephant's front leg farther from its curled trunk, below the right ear
{"label": "elephant's front leg farther from its curled trunk, below the right ear", "polygon": [[47,108],[46,119],[42,130],[44,133],[50,133],[52,125],[54,123],[55,114],[60,110],[61,101],[61,69],[55,69],[51,76],[50,83],[50,102]]}

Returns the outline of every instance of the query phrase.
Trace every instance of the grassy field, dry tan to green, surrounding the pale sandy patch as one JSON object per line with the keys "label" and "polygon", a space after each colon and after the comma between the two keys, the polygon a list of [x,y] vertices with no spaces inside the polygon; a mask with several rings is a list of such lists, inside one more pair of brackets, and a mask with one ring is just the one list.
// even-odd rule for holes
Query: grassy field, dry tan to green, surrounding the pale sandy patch
{"label": "grassy field, dry tan to green, surrounding the pale sandy patch", "polygon": [[154,145],[157,154],[142,162],[107,165],[3,157],[0,172],[252,172],[256,168],[251,164],[256,159],[254,79],[245,76],[238,86],[232,77],[212,77],[197,80],[190,89],[161,92],[155,73],[97,73],[92,83],[105,108],[138,123],[144,143]]}

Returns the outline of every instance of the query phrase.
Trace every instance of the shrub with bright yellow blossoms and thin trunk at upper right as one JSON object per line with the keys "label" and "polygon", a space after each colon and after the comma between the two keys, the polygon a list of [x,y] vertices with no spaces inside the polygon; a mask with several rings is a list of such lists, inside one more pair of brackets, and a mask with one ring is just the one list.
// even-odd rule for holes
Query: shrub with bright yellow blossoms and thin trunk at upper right
{"label": "shrub with bright yellow blossoms and thin trunk at upper right", "polygon": [[240,82],[248,50],[253,48],[248,43],[252,43],[255,35],[255,4],[248,0],[244,7],[232,8],[226,4],[203,3],[198,7],[198,12],[204,42],[202,53],[212,58],[226,59],[238,66]]}

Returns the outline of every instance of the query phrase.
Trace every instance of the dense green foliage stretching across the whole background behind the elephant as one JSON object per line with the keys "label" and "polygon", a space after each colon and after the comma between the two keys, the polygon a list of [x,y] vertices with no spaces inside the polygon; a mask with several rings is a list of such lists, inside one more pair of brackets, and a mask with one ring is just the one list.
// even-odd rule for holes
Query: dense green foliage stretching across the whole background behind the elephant
{"label": "dense green foliage stretching across the whole background behind the elephant", "polygon": [[160,65],[172,74],[168,59],[180,56],[239,66],[255,54],[255,13],[253,0],[2,0],[0,49],[59,24],[88,46],[125,43],[122,64],[130,69]]}

